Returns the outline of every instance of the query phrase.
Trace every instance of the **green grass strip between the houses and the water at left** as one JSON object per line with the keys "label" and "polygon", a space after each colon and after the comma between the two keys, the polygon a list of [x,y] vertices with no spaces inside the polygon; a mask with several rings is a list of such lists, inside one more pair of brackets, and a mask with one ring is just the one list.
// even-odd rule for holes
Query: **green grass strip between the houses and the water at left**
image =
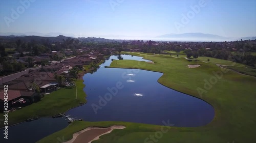
{"label": "green grass strip between the houses and the water at left", "polygon": [[[71,89],[60,89],[52,92],[51,94],[45,95],[41,101],[33,103],[22,109],[8,113],[8,124],[12,125],[18,122],[25,121],[26,119],[34,116],[38,117],[49,117],[59,112],[66,112],[68,109],[78,106],[79,102],[86,103],[86,94],[83,91],[83,81],[77,80],[77,99],[76,99],[76,88]],[[3,117],[3,113],[0,114]],[[3,127],[3,122],[1,127]]]}

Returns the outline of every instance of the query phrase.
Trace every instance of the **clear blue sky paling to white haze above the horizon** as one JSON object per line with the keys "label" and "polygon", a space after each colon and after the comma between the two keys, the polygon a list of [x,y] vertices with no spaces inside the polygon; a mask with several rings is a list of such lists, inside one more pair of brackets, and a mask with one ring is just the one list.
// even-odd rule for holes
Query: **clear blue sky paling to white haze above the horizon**
{"label": "clear blue sky paling to white haze above the horizon", "polygon": [[[24,7],[22,2],[29,3]],[[193,11],[191,6],[200,10]],[[59,32],[76,37],[196,32],[256,36],[254,0],[3,0],[0,18],[0,32]]]}

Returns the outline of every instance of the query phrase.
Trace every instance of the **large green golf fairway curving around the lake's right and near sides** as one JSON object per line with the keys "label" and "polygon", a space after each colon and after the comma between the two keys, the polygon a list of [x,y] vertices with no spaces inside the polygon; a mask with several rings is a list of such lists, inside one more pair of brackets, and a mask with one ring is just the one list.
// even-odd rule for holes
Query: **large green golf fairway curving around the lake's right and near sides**
{"label": "large green golf fairway curving around the lake's right and near sides", "polygon": [[[131,53],[139,55],[137,53]],[[197,89],[204,89],[204,80],[209,81],[221,72],[221,68],[212,63],[201,61],[188,62],[184,58],[172,58],[164,55],[139,55],[152,60],[155,64],[133,60],[114,60],[112,68],[137,68],[164,73],[158,81],[174,90],[178,90],[203,99],[215,108],[214,120],[206,126],[181,128],[172,127],[163,133],[157,142],[256,142],[256,78],[241,75],[233,71],[222,73],[221,79],[210,90],[199,95]],[[212,61],[213,62],[213,61]],[[217,61],[223,64],[229,62]],[[220,63],[220,64],[221,64]],[[200,64],[198,68],[187,68],[188,64]],[[57,142],[57,137],[69,140],[72,134],[88,126],[107,127],[124,125],[125,129],[114,130],[93,142],[145,142],[144,139],[160,131],[161,126],[124,123],[124,122],[75,122],[39,142]]]}

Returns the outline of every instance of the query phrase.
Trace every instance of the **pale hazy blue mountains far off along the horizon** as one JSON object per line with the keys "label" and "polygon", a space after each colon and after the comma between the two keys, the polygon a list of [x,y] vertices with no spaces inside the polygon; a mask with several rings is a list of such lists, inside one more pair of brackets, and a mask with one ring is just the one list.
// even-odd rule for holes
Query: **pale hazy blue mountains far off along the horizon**
{"label": "pale hazy blue mountains far off along the horizon", "polygon": [[[63,35],[66,37],[71,38],[78,38],[73,34],[62,34],[62,33],[37,33],[37,32],[26,32],[26,33],[0,33],[0,36],[8,36],[12,37],[25,37],[25,36],[40,36],[40,37],[57,37],[59,35]],[[142,38],[139,37],[131,37],[131,36],[123,36],[123,35],[105,35],[99,36],[109,39],[138,39],[141,40]],[[255,40],[256,37],[241,37],[241,38],[234,38],[234,37],[223,37],[219,35],[213,34],[204,34],[204,33],[183,33],[183,34],[165,34],[157,37],[147,37],[147,39],[157,40],[157,41],[237,41],[237,40]],[[144,40],[144,39],[142,39]]]}

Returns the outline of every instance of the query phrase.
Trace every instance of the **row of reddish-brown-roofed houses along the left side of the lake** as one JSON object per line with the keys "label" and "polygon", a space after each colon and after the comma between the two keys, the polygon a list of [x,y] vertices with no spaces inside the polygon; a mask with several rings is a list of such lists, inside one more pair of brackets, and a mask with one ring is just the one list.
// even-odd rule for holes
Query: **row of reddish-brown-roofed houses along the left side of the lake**
{"label": "row of reddish-brown-roofed houses along the left side of the lake", "polygon": [[[19,60],[25,60],[27,58],[29,58],[29,56],[20,57]],[[44,57],[44,59],[46,58],[47,57]],[[83,54],[63,60],[61,63],[53,63],[37,70],[32,70],[19,78],[5,82],[4,85],[8,85],[8,95],[10,95],[8,96],[8,105],[15,107],[33,103],[36,96],[40,95],[38,91],[36,91],[38,90],[36,87],[39,87],[39,91],[42,94],[55,91],[59,88],[59,82],[55,79],[56,75],[62,74],[66,79],[72,78],[68,73],[73,67],[78,67],[82,70],[83,65],[90,65],[91,62],[98,63],[102,59],[103,56],[98,58],[93,54]],[[1,95],[4,95],[2,94],[4,93],[4,85],[0,85]],[[4,104],[2,103],[4,103],[4,96],[0,97],[1,110],[4,108]]]}

